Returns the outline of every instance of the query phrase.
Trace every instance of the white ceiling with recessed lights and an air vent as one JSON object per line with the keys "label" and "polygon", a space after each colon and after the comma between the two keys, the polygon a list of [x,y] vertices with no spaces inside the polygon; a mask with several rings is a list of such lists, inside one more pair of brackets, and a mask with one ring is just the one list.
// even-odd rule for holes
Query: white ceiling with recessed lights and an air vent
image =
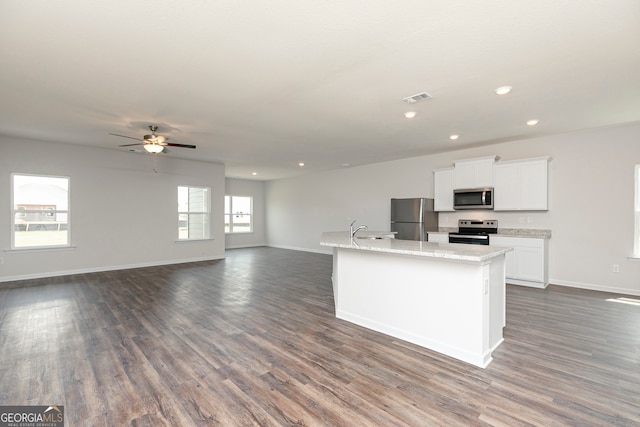
{"label": "white ceiling with recessed lights and an air vent", "polygon": [[249,179],[640,120],[638,0],[0,0],[0,57],[1,134]]}

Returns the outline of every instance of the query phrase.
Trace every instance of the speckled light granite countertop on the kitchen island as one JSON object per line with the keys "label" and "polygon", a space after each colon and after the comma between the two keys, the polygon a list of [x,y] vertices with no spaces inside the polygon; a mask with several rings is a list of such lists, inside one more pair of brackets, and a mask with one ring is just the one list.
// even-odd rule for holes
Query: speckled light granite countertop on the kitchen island
{"label": "speckled light granite countertop on the kitchen island", "polygon": [[366,232],[362,234],[358,233],[356,237],[351,238],[348,231],[327,231],[322,233],[320,245],[334,248],[473,262],[484,262],[512,250],[512,248],[496,246],[421,242],[384,237],[389,234],[389,232],[382,231]]}

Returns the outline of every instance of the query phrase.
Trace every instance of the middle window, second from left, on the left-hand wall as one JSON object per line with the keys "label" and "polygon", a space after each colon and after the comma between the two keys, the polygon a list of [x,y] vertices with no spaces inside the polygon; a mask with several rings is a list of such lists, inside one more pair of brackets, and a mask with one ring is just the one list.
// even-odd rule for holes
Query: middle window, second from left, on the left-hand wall
{"label": "middle window, second from left, on the left-hand wall", "polygon": [[210,188],[178,187],[179,240],[209,238],[210,194]]}

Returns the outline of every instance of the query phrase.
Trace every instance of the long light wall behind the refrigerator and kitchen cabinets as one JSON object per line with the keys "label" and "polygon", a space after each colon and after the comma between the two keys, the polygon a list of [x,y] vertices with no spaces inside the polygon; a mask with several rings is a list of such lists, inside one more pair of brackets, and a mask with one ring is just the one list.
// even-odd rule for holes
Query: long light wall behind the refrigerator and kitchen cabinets
{"label": "long light wall behind the refrigerator and kitchen cabinets", "polygon": [[473,217],[498,219],[503,228],[551,229],[551,283],[640,295],[640,261],[628,258],[634,165],[640,163],[637,123],[272,181],[265,188],[267,242],[329,253],[318,244],[323,231],[346,230],[353,219],[388,230],[390,198],[433,197],[433,169],[493,154],[502,160],[553,157],[549,211],[446,213],[441,227]]}

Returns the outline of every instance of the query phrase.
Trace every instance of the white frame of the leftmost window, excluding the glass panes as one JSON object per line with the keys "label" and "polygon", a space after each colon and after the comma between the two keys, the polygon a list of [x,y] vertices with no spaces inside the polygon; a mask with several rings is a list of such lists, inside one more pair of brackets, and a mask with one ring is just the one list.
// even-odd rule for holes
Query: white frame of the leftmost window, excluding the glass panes
{"label": "white frame of the leftmost window, excluding the glass panes", "polygon": [[[34,177],[34,178],[54,178],[64,179],[67,183],[67,209],[45,209],[46,216],[66,215],[66,243],[65,244],[53,244],[53,245],[27,245],[16,246],[16,215],[22,214],[42,214],[43,209],[19,209],[16,207],[16,177]],[[48,174],[35,174],[35,173],[22,173],[12,172],[10,180],[10,204],[11,204],[11,219],[9,226],[11,227],[11,250],[12,251],[30,251],[30,250],[51,250],[51,249],[68,249],[71,248],[71,177],[63,175],[48,175]],[[45,204],[41,204],[45,206]],[[59,225],[58,225],[59,228]],[[58,230],[62,231],[62,230]]]}

